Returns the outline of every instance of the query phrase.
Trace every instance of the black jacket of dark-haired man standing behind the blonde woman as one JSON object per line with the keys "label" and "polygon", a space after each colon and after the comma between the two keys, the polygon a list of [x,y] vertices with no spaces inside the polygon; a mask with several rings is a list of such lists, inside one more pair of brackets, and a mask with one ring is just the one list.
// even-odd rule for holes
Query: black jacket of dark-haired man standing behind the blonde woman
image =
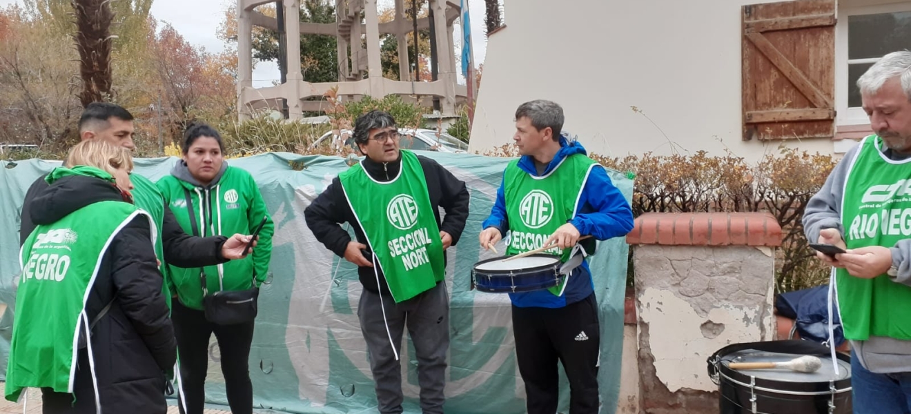
{"label": "black jacket of dark-haired man standing behind the blonde woman", "polygon": [[[48,187],[46,176],[42,176],[32,183],[26,191],[26,199],[22,203],[22,213],[19,224],[19,246],[26,243],[26,238],[32,234],[36,227],[36,217],[33,210],[39,208],[53,208],[53,206],[34,206],[33,201],[37,195]],[[72,189],[64,191],[74,191]],[[76,197],[80,197],[74,194]],[[87,195],[92,197],[91,195]],[[45,202],[44,200],[42,202]],[[161,200],[164,203],[164,199]],[[174,218],[170,208],[165,205],[163,223],[161,225],[161,247],[164,252],[163,261],[179,268],[204,268],[224,263],[227,260],[221,256],[221,247],[228,237],[194,237],[183,231],[183,228]]]}

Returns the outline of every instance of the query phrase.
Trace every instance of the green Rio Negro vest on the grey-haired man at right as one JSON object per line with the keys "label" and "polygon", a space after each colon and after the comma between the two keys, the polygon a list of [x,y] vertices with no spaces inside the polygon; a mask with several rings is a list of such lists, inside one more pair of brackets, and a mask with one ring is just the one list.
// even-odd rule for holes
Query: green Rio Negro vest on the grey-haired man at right
{"label": "green Rio Negro vest on the grey-haired man at right", "polygon": [[[867,136],[859,146],[844,181],[844,243],[893,247],[911,237],[911,159],[886,159],[879,136]],[[844,338],[911,339],[911,317],[902,310],[911,311],[911,287],[885,274],[855,278],[844,268],[836,269],[835,278]]]}

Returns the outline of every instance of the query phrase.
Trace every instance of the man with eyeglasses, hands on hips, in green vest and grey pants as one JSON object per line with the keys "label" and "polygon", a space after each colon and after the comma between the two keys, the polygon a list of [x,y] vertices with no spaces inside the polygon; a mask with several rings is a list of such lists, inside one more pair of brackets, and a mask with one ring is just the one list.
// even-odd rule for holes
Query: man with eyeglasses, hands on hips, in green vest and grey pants
{"label": "man with eyeglasses, hands on hips, in green vest and grey pants", "polygon": [[[400,150],[395,120],[386,112],[358,117],[353,138],[366,157],[334,178],[304,217],[323,245],[359,267],[357,314],[380,413],[403,411],[399,355],[407,325],[421,409],[442,414],[449,348],[445,249],[455,246],[465,228],[468,190],[434,160]],[[356,240],[339,226],[344,222]]]}

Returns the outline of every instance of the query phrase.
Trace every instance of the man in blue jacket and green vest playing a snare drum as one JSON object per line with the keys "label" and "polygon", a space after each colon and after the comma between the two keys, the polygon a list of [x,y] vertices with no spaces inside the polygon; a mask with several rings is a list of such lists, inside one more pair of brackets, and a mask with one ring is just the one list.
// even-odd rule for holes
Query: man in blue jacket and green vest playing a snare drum
{"label": "man in blue jacket and green vest playing a snare drum", "polygon": [[[630,204],[584,147],[560,136],[562,127],[563,108],[554,102],[518,107],[513,139],[522,157],[504,172],[479,237],[482,247],[492,247],[508,230],[507,255],[554,245],[548,252],[566,262],[593,253],[595,239],[630,232]],[[578,246],[582,236],[591,237]],[[559,361],[569,379],[570,414],[597,413],[600,330],[588,263],[556,287],[509,298],[527,412],[557,412]]]}

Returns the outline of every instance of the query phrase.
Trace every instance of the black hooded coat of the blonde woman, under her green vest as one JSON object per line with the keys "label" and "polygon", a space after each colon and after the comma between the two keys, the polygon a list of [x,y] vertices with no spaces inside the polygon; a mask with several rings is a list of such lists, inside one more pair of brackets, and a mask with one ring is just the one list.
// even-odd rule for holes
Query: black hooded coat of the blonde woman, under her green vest
{"label": "black hooded coat of the blonde woman, under her green vest", "polygon": [[[64,177],[36,194],[30,214],[36,225],[52,224],[104,200],[122,198],[119,190],[104,180]],[[144,216],[123,227],[101,258],[95,284],[88,293],[86,313],[90,321],[111,303],[91,331],[99,399],[106,412],[152,412],[153,407],[160,412],[167,410],[165,372],[177,361],[177,343],[150,235]],[[80,350],[79,355],[74,392],[77,399],[92,396],[90,400],[94,401],[87,352]],[[79,411],[78,407],[74,409]],[[90,411],[94,412],[94,407]]]}

